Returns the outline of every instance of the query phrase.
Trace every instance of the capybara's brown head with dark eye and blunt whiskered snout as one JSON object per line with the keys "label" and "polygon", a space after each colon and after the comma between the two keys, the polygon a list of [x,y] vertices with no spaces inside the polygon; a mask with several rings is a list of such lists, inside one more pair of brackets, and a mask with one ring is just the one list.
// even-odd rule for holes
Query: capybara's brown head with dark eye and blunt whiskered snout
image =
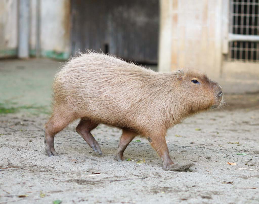
{"label": "capybara's brown head with dark eye and blunt whiskered snout", "polygon": [[204,73],[195,69],[183,69],[176,71],[176,77],[188,113],[217,108],[221,104],[221,86],[211,81]]}

